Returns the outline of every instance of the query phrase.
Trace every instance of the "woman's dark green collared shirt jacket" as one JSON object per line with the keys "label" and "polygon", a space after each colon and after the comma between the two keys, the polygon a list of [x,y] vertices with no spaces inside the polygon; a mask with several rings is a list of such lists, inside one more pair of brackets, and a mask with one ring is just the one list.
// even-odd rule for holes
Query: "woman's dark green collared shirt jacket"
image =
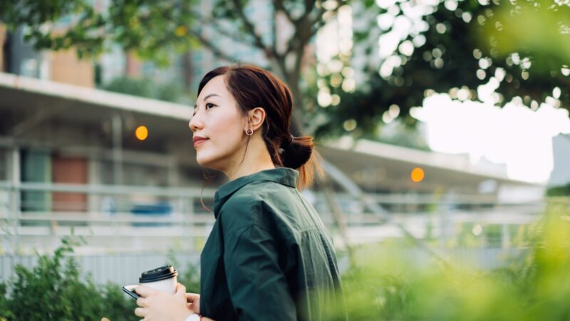
{"label": "woman's dark green collared shirt jacket", "polygon": [[[200,313],[224,320],[346,320],[331,237],[291,168],[222,185],[201,255]],[[328,313],[335,312],[332,317]],[[338,315],[340,313],[340,316]]]}

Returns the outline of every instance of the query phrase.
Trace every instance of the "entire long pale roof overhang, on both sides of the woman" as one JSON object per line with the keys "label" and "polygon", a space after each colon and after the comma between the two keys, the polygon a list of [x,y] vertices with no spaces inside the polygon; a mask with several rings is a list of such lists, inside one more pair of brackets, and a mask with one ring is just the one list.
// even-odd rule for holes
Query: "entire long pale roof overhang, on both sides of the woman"
{"label": "entire long pale roof overhang, on both sides of the woman", "polygon": [[[187,141],[188,144],[181,148],[192,149],[191,133],[187,128],[191,112],[190,106],[177,103],[0,73],[0,117],[8,114],[13,118],[8,122],[11,128],[0,128],[0,138],[11,139],[11,132],[22,127],[26,129],[26,126],[28,130],[33,130],[34,119],[37,122],[51,119],[100,128],[101,123],[119,113],[133,116],[137,123],[147,124],[149,132],[157,137],[157,143]],[[476,186],[484,180],[541,186],[481,170],[458,156],[373,141],[361,140],[348,144],[333,141],[317,148],[323,157],[356,183],[373,190],[433,191],[450,186],[476,190]],[[195,158],[192,156],[193,149],[180,153],[185,158]],[[187,163],[196,165],[195,161]],[[410,171],[415,167],[425,170],[425,180],[421,183],[410,180]]]}

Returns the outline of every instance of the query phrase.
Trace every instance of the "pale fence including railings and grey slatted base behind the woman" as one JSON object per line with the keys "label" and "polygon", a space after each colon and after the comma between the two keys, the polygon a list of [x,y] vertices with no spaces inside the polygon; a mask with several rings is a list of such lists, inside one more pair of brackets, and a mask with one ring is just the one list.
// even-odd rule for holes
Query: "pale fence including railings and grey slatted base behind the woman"
{"label": "pale fence including railings and grey slatted base behind the woman", "polygon": [[[43,197],[30,197],[33,193]],[[429,240],[459,264],[484,268],[524,251],[511,244],[517,228],[537,220],[546,204],[546,200],[501,203],[493,195],[368,194],[366,201],[378,205],[378,212],[366,213],[362,200],[336,193],[333,201],[342,215],[335,219],[331,198],[311,190],[304,193],[341,249],[346,240],[358,245],[408,233]],[[83,195],[83,201],[62,201],[66,198],[53,197],[56,194]],[[214,190],[199,188],[0,182],[4,243],[0,275],[4,280],[13,275],[16,263],[32,266],[33,253],[51,253],[71,233],[86,238],[87,245],[76,249],[78,259],[97,282],[109,277],[129,282],[133,270],[163,264],[165,256],[160,253],[167,250],[197,264],[197,253],[214,224],[202,201],[212,208],[213,195]],[[461,243],[462,235],[470,236],[467,246]],[[459,246],[448,249],[453,242]],[[423,258],[420,250],[414,251],[400,254],[409,255],[410,260]],[[130,272],[118,272],[125,266]]]}

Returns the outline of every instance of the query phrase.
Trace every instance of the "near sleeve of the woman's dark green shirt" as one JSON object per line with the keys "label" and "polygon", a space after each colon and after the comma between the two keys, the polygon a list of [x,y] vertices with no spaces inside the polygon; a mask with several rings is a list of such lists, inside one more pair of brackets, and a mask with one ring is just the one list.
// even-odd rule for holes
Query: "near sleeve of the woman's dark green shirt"
{"label": "near sleeve of the woman's dark green shirt", "polygon": [[224,240],[224,268],[239,320],[296,320],[275,238],[256,224],[232,234]]}

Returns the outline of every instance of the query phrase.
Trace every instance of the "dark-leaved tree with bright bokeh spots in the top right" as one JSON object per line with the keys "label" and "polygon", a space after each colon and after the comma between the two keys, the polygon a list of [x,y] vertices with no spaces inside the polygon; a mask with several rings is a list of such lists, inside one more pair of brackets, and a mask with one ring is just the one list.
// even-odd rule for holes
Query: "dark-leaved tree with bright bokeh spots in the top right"
{"label": "dark-leaved tree with bright bokeh spots in the top right", "polygon": [[[446,0],[435,6],[412,0],[377,2],[380,6],[363,1],[361,11],[368,15],[361,19],[369,19],[354,32],[356,46],[366,53],[361,57],[366,61],[361,84],[346,93],[330,85],[333,77],[342,75],[325,76],[325,90],[341,102],[327,107],[321,135],[346,133],[347,123],[355,136],[371,133],[390,106],[392,115],[413,124],[410,108],[421,106],[431,93],[491,100],[498,106],[520,97],[533,109],[549,101],[570,111],[568,1],[499,5],[489,0]],[[380,50],[378,36],[371,37],[370,26],[376,23]],[[492,89],[496,94],[487,96]]]}

